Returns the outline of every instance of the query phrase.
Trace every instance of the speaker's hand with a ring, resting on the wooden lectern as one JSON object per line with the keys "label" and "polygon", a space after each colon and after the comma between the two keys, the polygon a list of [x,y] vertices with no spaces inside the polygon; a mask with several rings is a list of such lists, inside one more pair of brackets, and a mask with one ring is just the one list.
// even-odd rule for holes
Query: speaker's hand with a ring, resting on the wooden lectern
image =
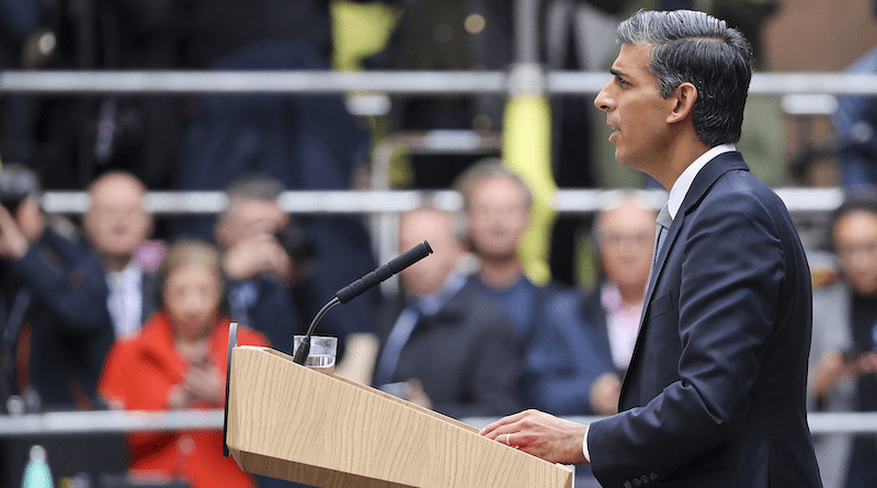
{"label": "speaker's hand with a ring, resting on the wooden lectern", "polygon": [[480,433],[550,463],[585,464],[582,443],[586,432],[588,425],[525,410],[491,423]]}

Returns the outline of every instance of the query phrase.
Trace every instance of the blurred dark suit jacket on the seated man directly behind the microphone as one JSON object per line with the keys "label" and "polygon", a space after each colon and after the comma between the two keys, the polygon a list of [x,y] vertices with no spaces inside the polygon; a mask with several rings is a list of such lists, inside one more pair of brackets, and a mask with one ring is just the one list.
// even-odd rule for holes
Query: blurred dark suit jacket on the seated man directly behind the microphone
{"label": "blurred dark suit jacket on the seated man directly behind the microphone", "polygon": [[[375,322],[381,353],[401,311],[398,304],[385,305]],[[467,282],[438,313],[421,316],[392,381],[420,379],[432,408],[446,416],[496,417],[520,408],[520,364],[512,319]]]}

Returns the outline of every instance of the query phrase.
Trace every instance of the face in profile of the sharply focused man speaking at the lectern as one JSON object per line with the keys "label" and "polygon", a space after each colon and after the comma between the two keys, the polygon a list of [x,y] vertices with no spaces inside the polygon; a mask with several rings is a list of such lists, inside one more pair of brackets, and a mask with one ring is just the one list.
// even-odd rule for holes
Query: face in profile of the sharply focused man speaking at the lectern
{"label": "face in profile of the sharply focused man speaking at the lectern", "polygon": [[668,115],[674,102],[661,98],[658,79],[648,69],[650,54],[648,46],[622,44],[611,69],[614,78],[596,95],[594,105],[606,113],[606,125],[615,129],[610,136],[615,159],[652,174],[651,169],[664,160]]}

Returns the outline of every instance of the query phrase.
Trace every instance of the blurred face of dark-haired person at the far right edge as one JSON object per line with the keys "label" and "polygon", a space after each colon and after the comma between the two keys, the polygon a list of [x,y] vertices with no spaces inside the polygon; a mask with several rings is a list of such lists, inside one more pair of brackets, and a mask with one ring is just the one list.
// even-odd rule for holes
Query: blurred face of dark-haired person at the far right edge
{"label": "blurred face of dark-haired person at the far right edge", "polygon": [[877,295],[877,215],[854,211],[832,231],[834,250],[850,285],[861,295]]}

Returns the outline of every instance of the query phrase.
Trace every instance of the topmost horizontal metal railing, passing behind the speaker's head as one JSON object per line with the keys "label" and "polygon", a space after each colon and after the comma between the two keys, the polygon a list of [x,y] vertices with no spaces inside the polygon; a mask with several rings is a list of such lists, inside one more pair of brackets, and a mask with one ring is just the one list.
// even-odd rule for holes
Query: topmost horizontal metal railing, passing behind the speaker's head
{"label": "topmost horizontal metal railing, passing behind the speaker's head", "polygon": [[[538,73],[538,71],[536,71]],[[538,75],[537,75],[538,76]],[[599,92],[606,72],[545,71],[535,80],[549,94]],[[517,81],[506,71],[3,71],[0,93],[506,93]],[[877,94],[877,76],[845,72],[755,72],[750,93]]]}

